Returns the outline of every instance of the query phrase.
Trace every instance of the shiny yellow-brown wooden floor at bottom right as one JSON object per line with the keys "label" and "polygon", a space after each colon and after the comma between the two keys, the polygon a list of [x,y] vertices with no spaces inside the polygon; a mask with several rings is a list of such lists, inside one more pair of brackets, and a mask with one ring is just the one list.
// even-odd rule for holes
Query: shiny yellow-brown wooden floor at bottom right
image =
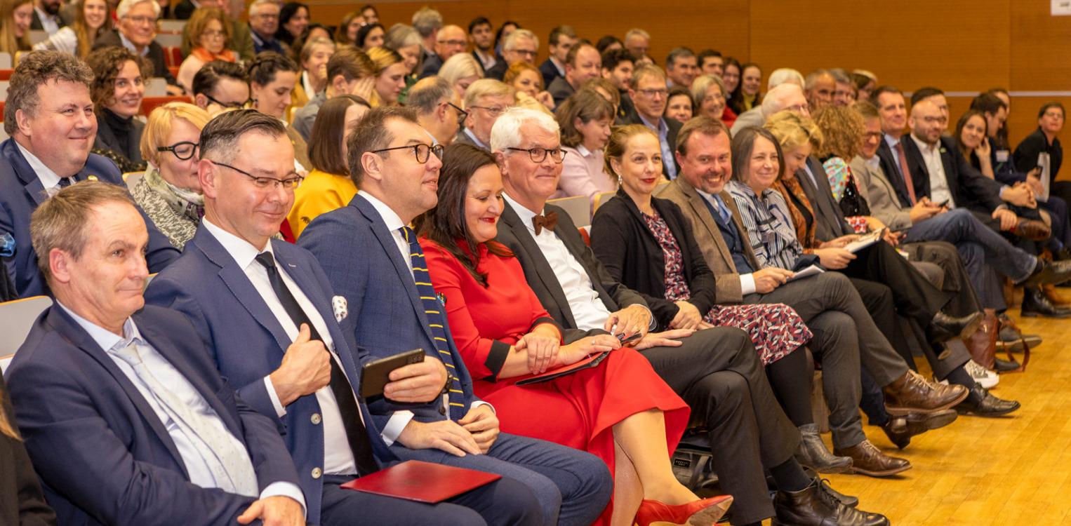
{"label": "shiny yellow-brown wooden floor at bottom right", "polygon": [[1044,339],[1027,371],[1002,375],[993,390],[1022,403],[1019,411],[960,417],[903,451],[866,426],[875,446],[908,459],[914,469],[886,479],[828,476],[833,486],[897,526],[1071,524],[1071,319],[1016,321]]}

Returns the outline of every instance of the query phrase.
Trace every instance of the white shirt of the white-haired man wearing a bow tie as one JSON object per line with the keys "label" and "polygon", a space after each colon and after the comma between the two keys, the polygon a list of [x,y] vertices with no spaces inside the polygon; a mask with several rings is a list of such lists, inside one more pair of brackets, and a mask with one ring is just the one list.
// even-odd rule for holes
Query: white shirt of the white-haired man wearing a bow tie
{"label": "white shirt of the white-haired man wearing a bow tie", "polygon": [[569,310],[573,312],[576,328],[585,331],[602,329],[610,312],[599,298],[599,291],[595,290],[584,266],[573,257],[565,243],[562,243],[553,230],[543,228],[539,235],[536,234],[536,226],[532,225],[536,212],[528,210],[507,194],[502,194],[502,198],[521,217],[521,223],[528,228],[546,262],[554,269],[558,285],[561,285],[561,291],[569,301]]}

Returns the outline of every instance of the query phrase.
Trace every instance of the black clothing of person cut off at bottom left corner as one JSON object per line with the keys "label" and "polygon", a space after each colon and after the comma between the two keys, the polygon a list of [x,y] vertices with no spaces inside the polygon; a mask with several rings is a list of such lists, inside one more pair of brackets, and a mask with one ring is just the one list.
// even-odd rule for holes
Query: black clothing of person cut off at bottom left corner
{"label": "black clothing of person cut off at bottom left corner", "polygon": [[[15,427],[15,411],[0,375],[0,417]],[[56,512],[45,502],[21,440],[0,433],[0,524],[45,526],[56,524]]]}

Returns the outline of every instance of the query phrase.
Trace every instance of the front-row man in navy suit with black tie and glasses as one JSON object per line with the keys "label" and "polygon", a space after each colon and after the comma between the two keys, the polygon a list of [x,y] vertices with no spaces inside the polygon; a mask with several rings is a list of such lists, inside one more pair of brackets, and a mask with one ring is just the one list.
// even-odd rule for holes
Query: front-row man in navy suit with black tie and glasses
{"label": "front-row man in navy suit with black tie and glasses", "polygon": [[[338,322],[358,313],[333,296],[307,251],[271,240],[301,180],[284,124],[252,109],[230,111],[205,126],[200,145],[205,221],[147,297],[185,314],[239,394],[278,427],[308,522],[540,524],[536,495],[512,479],[437,506],[340,487],[397,457],[381,437],[384,422],[355,395],[368,355]],[[439,400],[447,384],[446,367],[431,357],[391,375],[386,395],[405,405]],[[479,453],[472,440],[459,447]]]}

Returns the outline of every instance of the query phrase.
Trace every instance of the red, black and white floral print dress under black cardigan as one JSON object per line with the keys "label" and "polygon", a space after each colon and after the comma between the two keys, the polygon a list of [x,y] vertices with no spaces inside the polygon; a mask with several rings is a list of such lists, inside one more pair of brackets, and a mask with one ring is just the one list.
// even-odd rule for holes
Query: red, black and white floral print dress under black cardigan
{"label": "red, black and white floral print dress under black cardigan", "polygon": [[[662,246],[665,261],[665,297],[669,301],[683,301],[692,297],[684,279],[684,264],[680,247],[669,226],[658,212],[644,216],[647,228]],[[812,333],[803,318],[793,307],[784,303],[760,303],[754,305],[715,304],[703,316],[703,320],[716,327],[736,327],[748,331],[763,365],[769,365],[784,358],[811,340]]]}

